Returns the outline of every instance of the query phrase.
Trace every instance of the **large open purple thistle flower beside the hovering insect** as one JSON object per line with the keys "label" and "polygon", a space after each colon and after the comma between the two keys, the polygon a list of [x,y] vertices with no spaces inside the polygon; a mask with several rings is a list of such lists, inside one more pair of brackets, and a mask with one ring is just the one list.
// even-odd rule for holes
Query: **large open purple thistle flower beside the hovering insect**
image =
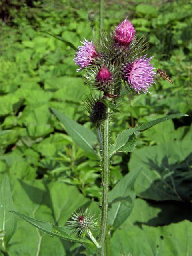
{"label": "large open purple thistle flower beside the hovering insect", "polygon": [[127,63],[123,66],[123,78],[130,84],[138,94],[140,91],[146,93],[148,88],[153,86],[154,76],[156,73],[153,71],[155,68],[150,64],[151,58],[136,58],[134,62]]}

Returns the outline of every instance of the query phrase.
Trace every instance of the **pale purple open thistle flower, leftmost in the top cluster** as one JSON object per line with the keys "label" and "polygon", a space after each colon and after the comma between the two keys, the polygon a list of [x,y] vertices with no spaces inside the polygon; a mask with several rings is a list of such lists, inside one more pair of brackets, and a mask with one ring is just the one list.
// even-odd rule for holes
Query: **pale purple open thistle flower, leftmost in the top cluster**
{"label": "pale purple open thistle flower, leftmost in the top cluster", "polygon": [[80,66],[77,71],[82,70],[86,66],[88,66],[94,58],[97,56],[95,46],[91,40],[88,42],[86,39],[81,42],[83,45],[78,46],[78,51],[76,52],[76,56],[74,58],[75,64]]}

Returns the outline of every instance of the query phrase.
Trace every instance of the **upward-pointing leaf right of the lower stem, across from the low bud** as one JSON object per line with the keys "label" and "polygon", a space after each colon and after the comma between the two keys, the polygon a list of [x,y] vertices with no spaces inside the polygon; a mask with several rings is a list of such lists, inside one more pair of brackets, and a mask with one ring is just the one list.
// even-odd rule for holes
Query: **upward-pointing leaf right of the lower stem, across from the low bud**
{"label": "upward-pointing leaf right of the lower stem, across from the low bud", "polygon": [[108,223],[118,228],[130,215],[135,200],[134,182],[140,174],[141,168],[126,174],[109,193]]}

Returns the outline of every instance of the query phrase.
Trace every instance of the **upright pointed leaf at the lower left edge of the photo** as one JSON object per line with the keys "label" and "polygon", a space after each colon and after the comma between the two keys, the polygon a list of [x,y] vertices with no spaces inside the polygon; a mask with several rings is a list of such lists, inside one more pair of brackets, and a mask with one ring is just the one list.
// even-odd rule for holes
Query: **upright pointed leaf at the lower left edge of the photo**
{"label": "upright pointed leaf at the lower left edge of the photo", "polygon": [[5,247],[16,231],[17,219],[9,212],[13,209],[14,204],[9,185],[9,178],[7,175],[4,175],[0,188],[0,233],[3,234],[2,239],[5,243]]}

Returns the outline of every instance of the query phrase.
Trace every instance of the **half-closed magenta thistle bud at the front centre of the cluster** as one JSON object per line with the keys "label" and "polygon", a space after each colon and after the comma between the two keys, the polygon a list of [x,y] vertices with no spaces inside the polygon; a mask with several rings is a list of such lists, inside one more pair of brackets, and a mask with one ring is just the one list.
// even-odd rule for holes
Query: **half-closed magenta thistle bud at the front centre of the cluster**
{"label": "half-closed magenta thistle bud at the front centre of the cluster", "polygon": [[112,82],[111,72],[106,67],[100,68],[96,76],[97,88],[102,91],[108,90],[111,82]]}

